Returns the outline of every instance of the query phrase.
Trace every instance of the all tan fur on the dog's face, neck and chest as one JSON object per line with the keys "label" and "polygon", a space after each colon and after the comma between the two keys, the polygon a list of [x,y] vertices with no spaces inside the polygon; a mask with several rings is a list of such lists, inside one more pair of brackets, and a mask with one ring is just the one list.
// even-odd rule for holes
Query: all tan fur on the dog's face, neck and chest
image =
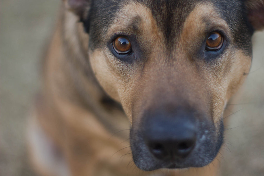
{"label": "all tan fur on the dog's face, neck and chest", "polygon": [[[174,61],[168,65],[165,40],[150,10],[135,2],[120,9],[121,12],[128,10],[131,13],[120,13],[122,15],[116,16],[106,39],[119,31],[133,32],[131,20],[140,18],[142,38],[139,40],[146,43],[149,55],[145,65],[130,67],[129,73],[126,71],[127,67],[111,57],[107,48],[86,51],[88,34],[83,32],[82,24],[75,25],[78,18],[63,7],[46,56],[44,85],[36,105],[34,122],[50,137],[55,148],[59,148],[64,154],[71,175],[218,175],[218,158],[209,166],[197,169],[162,169],[154,172],[134,169],[127,140],[129,131],[122,135],[112,134],[129,129],[132,123],[138,123],[144,108],[152,104],[157,94],[163,95],[168,102],[172,101],[172,97],[166,95],[175,92],[175,89],[180,93],[173,96],[184,97],[191,106],[200,109],[211,107],[208,113],[213,114],[214,122],[217,123],[228,99],[243,82],[245,76],[241,75],[249,71],[250,56],[245,55],[242,50],[230,48],[226,53],[227,61],[222,61],[218,66],[209,67],[200,61],[200,69],[197,69],[192,64],[185,48],[191,50],[195,47],[198,41],[193,36],[205,35],[202,32],[205,30],[203,19],[213,16],[209,19],[212,26],[230,33],[227,24],[215,13],[212,6],[199,4],[187,17],[181,37],[177,41],[177,50],[171,53]],[[69,59],[71,57],[75,60]],[[119,110],[109,110],[100,103],[105,93],[96,87],[92,78],[86,77],[88,57],[98,82],[107,94],[122,103],[126,115]],[[232,64],[231,59],[239,65]],[[164,70],[166,73],[163,73]],[[205,76],[201,77],[201,74]],[[206,101],[209,97],[205,91],[209,89],[213,94],[213,102]],[[158,103],[155,105],[158,106]],[[133,116],[137,118],[133,119]],[[106,130],[105,126],[111,126],[111,130]],[[32,155],[36,165],[41,165],[37,164],[37,156]],[[38,168],[43,175],[51,174],[45,173],[49,168]]]}

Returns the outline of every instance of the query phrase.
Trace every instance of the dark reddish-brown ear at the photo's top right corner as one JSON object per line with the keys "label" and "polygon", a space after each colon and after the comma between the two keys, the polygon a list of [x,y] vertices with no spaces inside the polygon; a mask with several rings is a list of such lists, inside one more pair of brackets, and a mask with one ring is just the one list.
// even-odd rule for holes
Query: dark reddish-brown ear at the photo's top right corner
{"label": "dark reddish-brown ear at the photo's top right corner", "polygon": [[264,0],[246,0],[249,22],[255,30],[264,29]]}

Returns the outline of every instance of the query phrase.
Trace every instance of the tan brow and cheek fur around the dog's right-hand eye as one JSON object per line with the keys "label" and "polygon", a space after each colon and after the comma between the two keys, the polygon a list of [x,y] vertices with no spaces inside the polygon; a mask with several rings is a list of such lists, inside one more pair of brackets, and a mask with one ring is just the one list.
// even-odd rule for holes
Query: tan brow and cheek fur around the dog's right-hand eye
{"label": "tan brow and cheek fur around the dog's right-hand eye", "polygon": [[[206,26],[205,19],[208,20],[211,26]],[[227,23],[219,16],[214,7],[211,4],[198,4],[184,23],[181,39],[179,41],[181,50],[184,50],[184,48],[195,48],[197,39],[194,36],[204,36],[206,27],[211,27],[211,30],[221,29],[232,38]],[[188,52],[182,53],[182,55],[187,56]],[[248,73],[251,65],[251,57],[245,55],[243,51],[234,48],[229,49],[225,57],[224,61],[219,64],[218,67],[211,67],[210,65],[208,68],[204,69],[206,73],[203,73],[203,75],[207,76],[207,78],[205,78],[207,80],[207,86],[214,92],[214,101],[212,102],[214,105],[212,106],[212,111],[215,123],[220,120],[219,118],[223,113],[225,104],[231,95],[237,91],[239,85],[241,85],[244,78],[246,78],[245,76],[241,77],[241,75],[243,75],[243,73]],[[232,64],[230,62],[231,60],[233,60],[233,63],[240,64]],[[201,64],[203,64],[201,67],[205,66],[204,63]],[[223,75],[226,72],[229,72],[229,74],[224,77]],[[223,77],[224,79],[222,79]]]}

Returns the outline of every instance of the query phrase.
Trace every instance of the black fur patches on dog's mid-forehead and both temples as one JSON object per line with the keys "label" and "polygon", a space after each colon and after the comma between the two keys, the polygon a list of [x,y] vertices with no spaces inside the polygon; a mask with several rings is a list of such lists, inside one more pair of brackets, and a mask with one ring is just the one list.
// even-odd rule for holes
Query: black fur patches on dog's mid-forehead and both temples
{"label": "black fur patches on dog's mid-forehead and both temples", "polygon": [[[181,34],[186,17],[195,7],[195,4],[201,0],[137,1],[152,11],[153,17],[167,41],[167,49],[171,50],[175,47],[175,42]],[[90,49],[104,45],[103,39],[105,36],[103,34],[112,23],[118,9],[128,2],[128,0],[92,1],[87,17],[85,19],[81,18],[86,32],[90,33]],[[253,34],[253,27],[248,22],[244,1],[208,0],[208,2],[214,4],[216,11],[221,14],[221,17],[232,29],[236,46],[244,49],[247,54],[251,54],[250,37]]]}

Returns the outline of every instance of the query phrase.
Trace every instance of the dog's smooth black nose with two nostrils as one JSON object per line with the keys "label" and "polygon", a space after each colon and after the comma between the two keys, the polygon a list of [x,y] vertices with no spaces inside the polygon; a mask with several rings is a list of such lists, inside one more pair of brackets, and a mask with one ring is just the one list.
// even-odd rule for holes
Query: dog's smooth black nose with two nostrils
{"label": "dog's smooth black nose with two nostrils", "polygon": [[186,116],[149,117],[144,140],[157,159],[185,158],[195,147],[195,126],[195,120]]}

